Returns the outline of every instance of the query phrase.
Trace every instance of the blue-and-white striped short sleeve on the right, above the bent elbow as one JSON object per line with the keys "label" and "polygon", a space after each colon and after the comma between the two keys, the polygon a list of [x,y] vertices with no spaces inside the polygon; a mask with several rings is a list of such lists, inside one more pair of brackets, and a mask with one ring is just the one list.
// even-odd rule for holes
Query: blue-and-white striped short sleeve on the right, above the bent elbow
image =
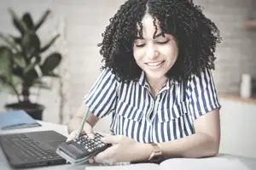
{"label": "blue-and-white striped short sleeve on the right, above the bent elbow", "polygon": [[192,76],[186,91],[189,113],[194,121],[209,111],[221,108],[212,72],[208,69],[202,70],[199,76]]}

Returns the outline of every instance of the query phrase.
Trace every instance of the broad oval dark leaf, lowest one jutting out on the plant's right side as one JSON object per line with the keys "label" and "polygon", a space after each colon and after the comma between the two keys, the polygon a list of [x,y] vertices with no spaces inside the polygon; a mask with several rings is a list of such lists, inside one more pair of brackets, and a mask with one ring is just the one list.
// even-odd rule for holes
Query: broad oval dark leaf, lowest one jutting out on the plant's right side
{"label": "broad oval dark leaf, lowest one jutting out on the plant's right side", "polygon": [[49,56],[44,60],[44,64],[41,65],[41,70],[44,75],[49,74],[54,71],[55,68],[61,63],[61,54],[53,53],[49,54]]}

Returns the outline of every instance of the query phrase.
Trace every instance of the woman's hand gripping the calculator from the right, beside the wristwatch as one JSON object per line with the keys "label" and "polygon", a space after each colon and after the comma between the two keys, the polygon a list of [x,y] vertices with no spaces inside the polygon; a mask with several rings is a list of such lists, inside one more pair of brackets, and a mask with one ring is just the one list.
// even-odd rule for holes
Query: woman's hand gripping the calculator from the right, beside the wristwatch
{"label": "woman's hand gripping the calculator from the right, beside the wristwatch", "polygon": [[124,161],[139,161],[148,158],[148,149],[146,144],[139,143],[134,139],[126,136],[106,136],[102,138],[102,142],[113,144],[107,150],[102,151],[94,157],[92,161],[104,163],[108,161],[109,164]]}

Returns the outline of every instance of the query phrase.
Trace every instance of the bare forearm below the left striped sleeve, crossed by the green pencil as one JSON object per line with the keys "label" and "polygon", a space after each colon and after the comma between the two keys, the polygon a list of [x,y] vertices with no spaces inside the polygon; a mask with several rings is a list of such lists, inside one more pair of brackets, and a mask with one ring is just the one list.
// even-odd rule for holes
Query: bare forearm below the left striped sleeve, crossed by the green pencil
{"label": "bare forearm below the left striped sleeve, crossed by the green pencil", "polygon": [[[83,120],[85,111],[86,111],[86,106],[84,102],[82,102],[82,104],[79,107],[79,110],[76,111],[76,113],[73,115],[70,122],[68,122],[67,124],[68,133],[72,133],[73,131],[79,129],[80,124]],[[94,127],[96,125],[96,122],[98,122],[98,120],[99,118],[89,111],[88,116],[86,117],[86,122],[89,123],[91,127]]]}

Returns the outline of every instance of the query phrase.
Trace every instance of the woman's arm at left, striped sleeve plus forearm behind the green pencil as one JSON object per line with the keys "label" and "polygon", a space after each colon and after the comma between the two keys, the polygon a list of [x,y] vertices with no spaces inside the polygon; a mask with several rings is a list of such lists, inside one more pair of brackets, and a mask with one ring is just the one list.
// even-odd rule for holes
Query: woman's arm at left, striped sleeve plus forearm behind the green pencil
{"label": "woman's arm at left, striped sleeve plus forearm behind the green pencil", "polygon": [[116,86],[117,82],[113,73],[109,69],[102,71],[89,93],[84,96],[79,110],[68,123],[68,132],[71,133],[79,129],[87,106],[90,107],[90,112],[86,117],[86,122],[90,124],[90,127],[94,127],[100,118],[107,116],[115,106]]}

